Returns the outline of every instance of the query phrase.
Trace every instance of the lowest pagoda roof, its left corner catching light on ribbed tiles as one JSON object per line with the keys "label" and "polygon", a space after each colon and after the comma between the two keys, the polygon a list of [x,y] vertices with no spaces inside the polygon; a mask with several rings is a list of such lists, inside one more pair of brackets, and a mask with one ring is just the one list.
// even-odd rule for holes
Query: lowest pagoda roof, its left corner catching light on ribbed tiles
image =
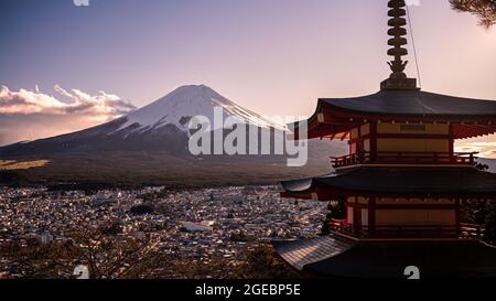
{"label": "lowest pagoda roof, its left corner catching light on ribbed tiles", "polygon": [[405,279],[409,266],[422,279],[496,277],[496,248],[476,240],[352,240],[332,234],[272,244],[294,269],[323,278]]}

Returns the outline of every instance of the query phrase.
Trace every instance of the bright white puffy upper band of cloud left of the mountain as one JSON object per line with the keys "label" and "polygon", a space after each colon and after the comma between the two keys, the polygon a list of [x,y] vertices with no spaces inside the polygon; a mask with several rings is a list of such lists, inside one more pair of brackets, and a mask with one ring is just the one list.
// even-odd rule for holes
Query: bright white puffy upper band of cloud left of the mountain
{"label": "bright white puffy upper band of cloud left of the mountain", "polygon": [[54,89],[60,96],[69,101],[61,101],[36,89],[20,89],[12,92],[7,86],[0,87],[0,114],[7,115],[71,115],[88,114],[95,119],[108,120],[122,116],[136,107],[119,96],[100,90],[97,95],[89,95],[78,89],[71,92],[55,85]]}

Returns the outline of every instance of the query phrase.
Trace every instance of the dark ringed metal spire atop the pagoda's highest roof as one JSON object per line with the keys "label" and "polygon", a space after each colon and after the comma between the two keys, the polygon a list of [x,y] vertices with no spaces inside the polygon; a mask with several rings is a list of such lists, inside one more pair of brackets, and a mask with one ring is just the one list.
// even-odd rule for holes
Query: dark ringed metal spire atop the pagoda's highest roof
{"label": "dark ringed metal spire atop the pagoda's highest roof", "polygon": [[407,39],[407,15],[405,0],[390,0],[388,2],[390,17],[388,25],[390,26],[388,34],[391,36],[388,45],[392,46],[388,50],[388,55],[393,56],[395,60],[388,62],[391,67],[391,75],[381,84],[381,89],[417,89],[417,79],[408,78],[405,74],[405,67],[408,61],[403,61],[402,56],[408,55],[408,50],[403,46],[408,44]]}

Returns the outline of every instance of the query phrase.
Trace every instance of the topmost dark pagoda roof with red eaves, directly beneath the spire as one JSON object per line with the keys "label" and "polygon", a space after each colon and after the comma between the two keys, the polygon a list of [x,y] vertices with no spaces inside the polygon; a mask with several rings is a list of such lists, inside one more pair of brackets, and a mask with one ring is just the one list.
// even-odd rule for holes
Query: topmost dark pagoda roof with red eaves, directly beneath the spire
{"label": "topmost dark pagoda roof with red eaves, directly beneath the spire", "polygon": [[[496,132],[496,100],[471,99],[418,88],[381,89],[367,96],[320,98],[306,120],[309,138],[338,137],[369,121],[452,123],[456,139]],[[299,139],[302,121],[289,125]]]}

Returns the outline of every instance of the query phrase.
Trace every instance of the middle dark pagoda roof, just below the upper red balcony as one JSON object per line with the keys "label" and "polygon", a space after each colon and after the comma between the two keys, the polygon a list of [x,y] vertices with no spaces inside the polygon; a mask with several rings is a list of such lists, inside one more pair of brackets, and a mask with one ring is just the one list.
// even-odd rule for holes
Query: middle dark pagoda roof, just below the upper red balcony
{"label": "middle dark pagoda roof, just below the upper red balcony", "polygon": [[281,184],[283,196],[320,201],[336,195],[496,197],[496,174],[472,166],[359,166]]}

